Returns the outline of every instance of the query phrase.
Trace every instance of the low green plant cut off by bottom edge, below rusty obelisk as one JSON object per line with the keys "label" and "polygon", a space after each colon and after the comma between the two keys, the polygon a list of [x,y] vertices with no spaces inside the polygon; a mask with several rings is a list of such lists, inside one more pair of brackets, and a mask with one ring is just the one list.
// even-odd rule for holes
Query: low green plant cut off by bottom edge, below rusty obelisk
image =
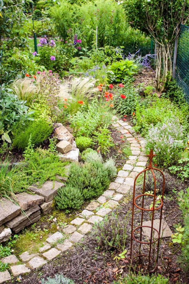
{"label": "low green plant cut off by bottom edge, below rusty obelisk", "polygon": [[169,279],[164,278],[162,275],[141,275],[138,273],[129,274],[128,276],[124,277],[122,280],[114,282],[114,284],[168,284]]}

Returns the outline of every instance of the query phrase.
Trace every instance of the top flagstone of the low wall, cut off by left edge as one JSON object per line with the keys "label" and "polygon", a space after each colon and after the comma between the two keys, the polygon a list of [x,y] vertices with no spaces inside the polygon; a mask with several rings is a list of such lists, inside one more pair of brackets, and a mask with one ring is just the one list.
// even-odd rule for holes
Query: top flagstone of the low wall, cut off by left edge
{"label": "top flagstone of the low wall, cut off by left edge", "polygon": [[0,201],[0,226],[21,213],[20,206],[5,198]]}

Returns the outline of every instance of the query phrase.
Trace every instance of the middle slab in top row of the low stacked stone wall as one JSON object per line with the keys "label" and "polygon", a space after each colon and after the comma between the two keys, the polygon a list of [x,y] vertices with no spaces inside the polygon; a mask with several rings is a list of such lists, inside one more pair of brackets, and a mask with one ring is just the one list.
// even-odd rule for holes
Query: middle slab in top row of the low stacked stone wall
{"label": "middle slab in top row of the low stacked stone wall", "polygon": [[44,197],[22,192],[16,195],[17,202],[23,210],[30,209],[44,202]]}

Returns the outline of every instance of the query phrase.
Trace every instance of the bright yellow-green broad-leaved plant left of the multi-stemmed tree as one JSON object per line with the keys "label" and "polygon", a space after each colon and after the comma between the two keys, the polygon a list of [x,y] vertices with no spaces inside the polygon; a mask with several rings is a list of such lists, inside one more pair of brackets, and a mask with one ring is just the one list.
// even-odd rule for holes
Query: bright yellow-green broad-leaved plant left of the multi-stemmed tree
{"label": "bright yellow-green broad-leaved plant left of the multi-stemmed tree", "polygon": [[138,72],[138,67],[132,60],[126,59],[113,62],[110,70],[115,75],[115,82],[124,82]]}

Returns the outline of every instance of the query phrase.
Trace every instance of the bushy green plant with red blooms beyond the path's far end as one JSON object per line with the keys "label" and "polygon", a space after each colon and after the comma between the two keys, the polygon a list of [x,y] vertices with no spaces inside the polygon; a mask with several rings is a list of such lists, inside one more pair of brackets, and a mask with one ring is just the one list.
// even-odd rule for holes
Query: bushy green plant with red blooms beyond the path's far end
{"label": "bushy green plant with red blooms beyond the path's far end", "polygon": [[[123,94],[125,97],[120,97]],[[140,96],[138,90],[133,88],[130,83],[125,84],[124,88],[121,88],[119,93],[114,95],[113,104],[117,113],[121,115],[132,114],[136,109],[136,104],[139,101]]]}

